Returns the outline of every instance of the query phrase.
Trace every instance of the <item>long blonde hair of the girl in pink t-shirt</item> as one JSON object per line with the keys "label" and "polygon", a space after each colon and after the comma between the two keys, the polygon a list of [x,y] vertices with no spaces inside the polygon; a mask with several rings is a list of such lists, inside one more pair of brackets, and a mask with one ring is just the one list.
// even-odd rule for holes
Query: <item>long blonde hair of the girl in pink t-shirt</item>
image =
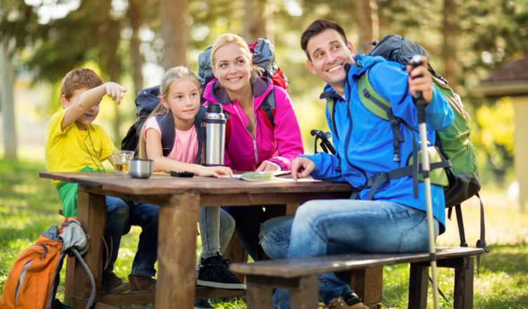
{"label": "long blonde hair of the girl in pink t-shirt", "polygon": [[[198,91],[202,93],[202,88],[200,88],[200,81],[198,80],[196,75],[191,70],[187,69],[187,67],[183,67],[180,65],[178,67],[173,67],[167,70],[167,72],[165,72],[163,79],[161,79],[161,85],[159,85],[159,98],[164,98],[164,100],[167,100],[167,96],[169,96],[169,90],[171,89],[172,84],[177,83],[178,81],[183,81],[185,79],[190,79],[191,81],[193,81],[194,84],[196,84]],[[152,110],[152,112],[146,119],[149,119],[152,116],[157,116],[159,114],[171,114],[171,109],[161,104],[161,101],[154,108],[154,110]],[[172,117],[172,114],[170,116]],[[147,121],[145,121],[143,126],[141,126],[141,129],[138,131],[140,133],[138,152],[139,157],[143,159],[147,157],[147,143],[145,141],[146,122]]]}

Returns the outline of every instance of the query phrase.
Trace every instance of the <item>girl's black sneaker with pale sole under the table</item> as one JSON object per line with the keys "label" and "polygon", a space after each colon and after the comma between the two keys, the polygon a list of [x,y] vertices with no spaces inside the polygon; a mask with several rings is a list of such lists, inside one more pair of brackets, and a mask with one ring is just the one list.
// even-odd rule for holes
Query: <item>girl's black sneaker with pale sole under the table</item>
{"label": "girl's black sneaker with pale sole under the table", "polygon": [[246,284],[240,282],[227,268],[230,262],[220,254],[210,258],[202,258],[196,283],[201,287],[216,287],[219,289],[246,289]]}

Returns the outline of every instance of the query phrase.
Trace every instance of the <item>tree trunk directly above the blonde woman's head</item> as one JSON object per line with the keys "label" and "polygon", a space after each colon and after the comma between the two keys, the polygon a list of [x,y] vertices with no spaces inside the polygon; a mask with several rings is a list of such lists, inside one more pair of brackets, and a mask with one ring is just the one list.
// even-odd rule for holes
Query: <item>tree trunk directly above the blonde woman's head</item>
{"label": "tree trunk directly above the blonde woman's head", "polygon": [[273,14],[269,0],[244,0],[244,34],[246,41],[265,37],[274,41]]}

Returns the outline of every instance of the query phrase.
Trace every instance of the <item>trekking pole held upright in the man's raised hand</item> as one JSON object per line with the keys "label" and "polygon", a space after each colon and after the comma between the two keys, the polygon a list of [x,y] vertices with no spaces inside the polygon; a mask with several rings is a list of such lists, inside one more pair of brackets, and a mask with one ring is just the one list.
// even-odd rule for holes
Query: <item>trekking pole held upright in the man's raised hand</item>
{"label": "trekking pole held upright in the man's raised hand", "polygon": [[[421,55],[414,55],[409,64],[412,67],[418,67],[422,64]],[[431,263],[431,273],[433,277],[433,301],[435,309],[438,309],[438,285],[437,285],[437,271],[436,271],[436,250],[435,250],[435,230],[433,227],[433,202],[431,199],[431,179],[429,177],[430,165],[429,157],[427,155],[427,126],[425,126],[425,101],[421,91],[416,93],[414,98],[416,109],[418,110],[418,129],[420,131],[421,144],[421,159],[422,159],[422,175],[423,183],[425,185],[425,203],[427,204],[427,227],[429,232],[429,260]]]}

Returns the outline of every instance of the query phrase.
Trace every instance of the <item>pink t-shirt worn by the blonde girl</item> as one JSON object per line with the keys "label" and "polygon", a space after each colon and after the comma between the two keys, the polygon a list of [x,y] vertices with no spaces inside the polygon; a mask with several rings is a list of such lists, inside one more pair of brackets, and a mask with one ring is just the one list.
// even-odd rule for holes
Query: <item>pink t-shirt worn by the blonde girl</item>
{"label": "pink t-shirt worn by the blonde girl", "polygon": [[[159,129],[156,117],[150,117],[145,122],[144,138],[147,138],[147,130],[154,129],[158,131],[161,136],[161,129]],[[167,156],[169,159],[174,159],[179,162],[196,164],[196,156],[198,154],[198,138],[196,135],[196,127],[192,126],[187,131],[180,131],[176,129],[174,138],[174,145],[171,152]]]}

